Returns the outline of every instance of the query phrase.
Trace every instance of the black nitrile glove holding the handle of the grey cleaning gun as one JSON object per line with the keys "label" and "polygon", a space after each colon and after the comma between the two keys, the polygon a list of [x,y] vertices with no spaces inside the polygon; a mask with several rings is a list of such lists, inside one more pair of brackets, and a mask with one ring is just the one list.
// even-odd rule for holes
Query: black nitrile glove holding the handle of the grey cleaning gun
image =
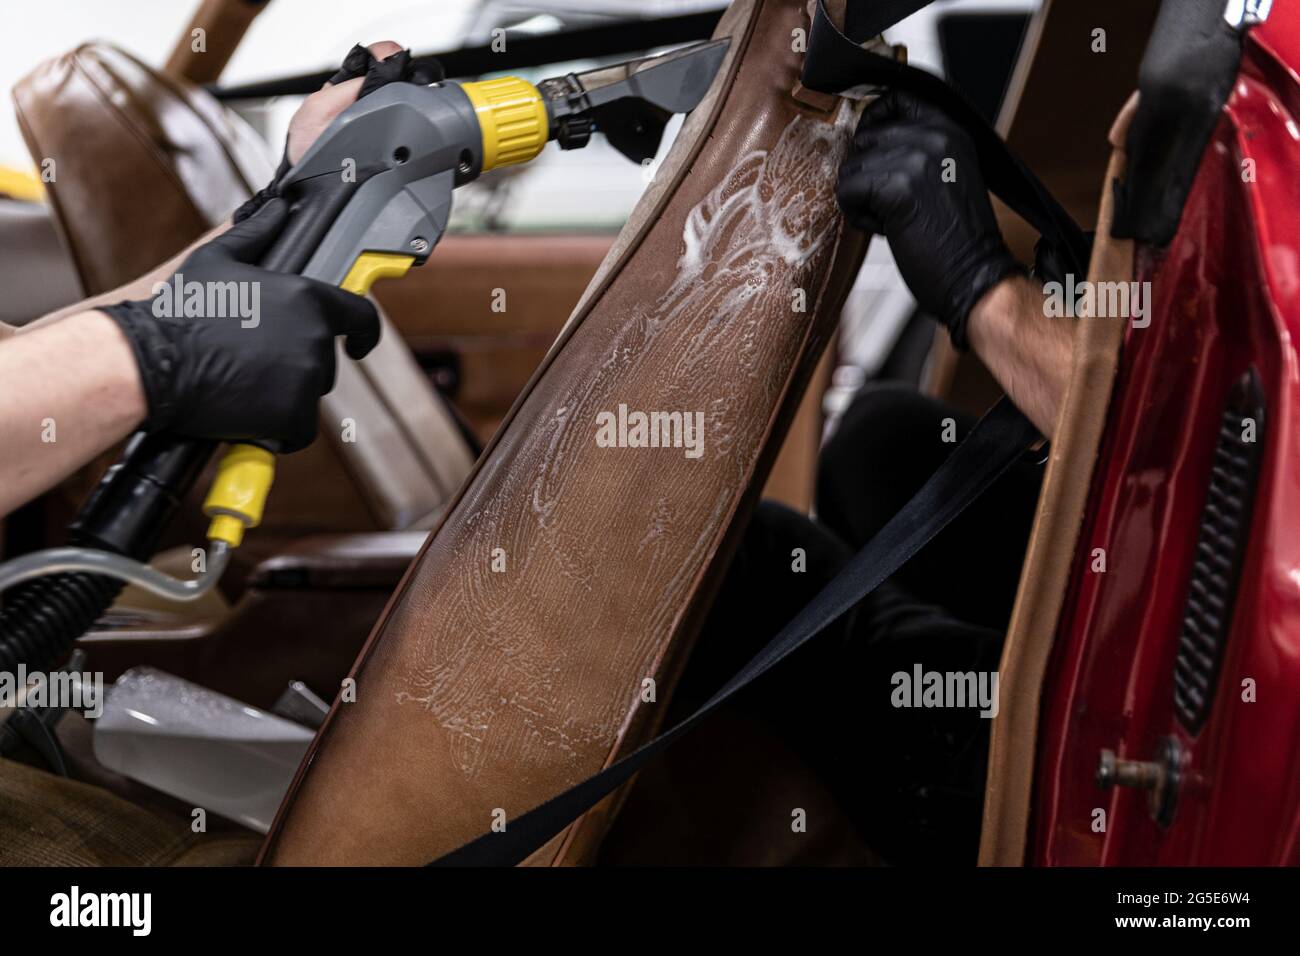
{"label": "black nitrile glove holding the handle of the grey cleaning gun", "polygon": [[[334,388],[334,337],[347,336],[354,359],[380,341],[378,315],[364,297],[254,264],[287,216],[286,203],[272,199],[191,252],[152,299],[100,310],[135,351],[148,431],[296,451],[316,437],[317,403]],[[191,290],[202,290],[202,302]],[[225,315],[207,313],[213,306]]]}

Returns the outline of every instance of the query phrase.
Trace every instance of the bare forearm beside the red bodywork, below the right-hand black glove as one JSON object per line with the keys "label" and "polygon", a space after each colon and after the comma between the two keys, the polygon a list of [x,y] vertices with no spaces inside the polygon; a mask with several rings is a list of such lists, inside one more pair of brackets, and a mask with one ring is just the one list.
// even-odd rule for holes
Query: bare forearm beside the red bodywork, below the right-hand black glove
{"label": "bare forearm beside the red bodywork, below the right-hand black glove", "polygon": [[1050,438],[1070,378],[1074,324],[1044,315],[1041,289],[1017,277],[1000,282],[975,304],[967,330],[975,354]]}

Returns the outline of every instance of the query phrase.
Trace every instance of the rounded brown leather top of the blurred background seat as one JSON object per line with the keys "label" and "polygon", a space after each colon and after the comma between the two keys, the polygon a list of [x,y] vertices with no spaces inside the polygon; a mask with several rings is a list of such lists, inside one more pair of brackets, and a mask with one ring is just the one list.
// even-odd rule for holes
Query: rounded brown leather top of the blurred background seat
{"label": "rounded brown leather top of the blurred background seat", "polygon": [[108,44],[42,64],[13,100],[88,295],[164,261],[274,172],[238,116]]}

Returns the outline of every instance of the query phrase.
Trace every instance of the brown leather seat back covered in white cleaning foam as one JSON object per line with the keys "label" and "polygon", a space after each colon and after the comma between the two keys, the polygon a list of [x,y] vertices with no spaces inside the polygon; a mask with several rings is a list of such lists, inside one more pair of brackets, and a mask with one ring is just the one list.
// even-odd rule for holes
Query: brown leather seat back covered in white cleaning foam
{"label": "brown leather seat back covered in white cleaning foam", "polygon": [[[724,16],[712,92],[372,633],[265,861],[422,864],[662,719],[863,252],[833,198],[852,111],[790,96],[805,8]],[[703,412],[702,457],[599,447],[620,403]],[[589,858],[606,822],[534,861]]]}

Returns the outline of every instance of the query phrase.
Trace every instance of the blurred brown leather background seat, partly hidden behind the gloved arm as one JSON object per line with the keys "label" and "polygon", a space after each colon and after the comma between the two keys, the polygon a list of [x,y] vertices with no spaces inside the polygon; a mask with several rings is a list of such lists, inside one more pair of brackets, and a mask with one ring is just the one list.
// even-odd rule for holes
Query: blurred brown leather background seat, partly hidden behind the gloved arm
{"label": "blurred brown leather background seat, partly hidden behind the gloved arm", "polygon": [[[27,147],[88,295],[165,261],[226,220],[274,165],[203,90],[87,43],[13,91]],[[473,463],[448,410],[384,320],[378,349],[341,360],[321,436],[286,457],[264,524],[282,531],[428,527]]]}

